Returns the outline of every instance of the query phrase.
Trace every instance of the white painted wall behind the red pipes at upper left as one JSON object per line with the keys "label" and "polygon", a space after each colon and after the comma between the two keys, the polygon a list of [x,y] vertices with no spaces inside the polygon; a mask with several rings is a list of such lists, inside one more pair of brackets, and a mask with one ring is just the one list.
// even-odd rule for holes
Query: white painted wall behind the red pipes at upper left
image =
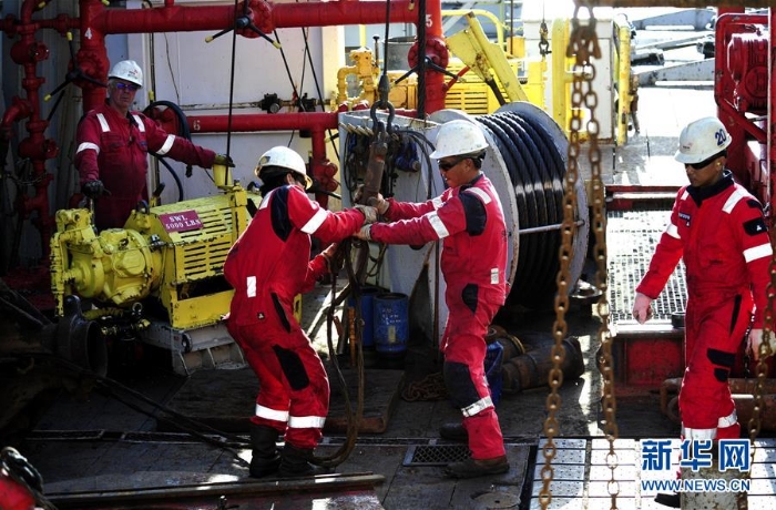
{"label": "white painted wall behind the red pipes at upper left", "polygon": [[[202,2],[176,2],[181,6],[188,3]],[[231,1],[210,3],[233,4]],[[140,2],[127,2],[127,9],[131,8],[140,8]],[[326,38],[323,37],[324,31],[327,34]],[[305,47],[302,29],[279,29],[277,35],[268,34],[280,42],[279,50],[263,38],[247,39],[241,35],[236,38],[232,110],[234,115],[264,114],[265,112],[257,106],[257,103],[265,94],[276,93],[283,100],[292,100],[294,94],[292,83],[297,88],[300,96],[306,93],[308,98],[318,98],[310,61],[315,67],[315,75],[318,78],[324,99],[328,98],[327,94],[333,90],[331,80],[325,76],[331,72],[336,76],[336,69],[343,65],[340,59],[331,57],[341,53],[333,49],[334,44],[339,43],[339,30],[309,28],[306,32],[307,47]],[[109,54],[121,53],[121,48],[125,44],[126,58],[141,63],[147,83],[145,90],[147,92],[153,89],[155,100],[176,103],[187,116],[226,115],[232,86],[233,33],[228,32],[210,43],[205,42],[205,38],[214,34],[215,32],[175,32],[114,35],[108,41]],[[325,53],[329,55],[327,59],[324,59]],[[284,55],[288,71],[286,71]],[[139,94],[137,109],[142,110],[147,104],[147,96]],[[287,111],[283,109],[277,114]],[[193,132],[192,140],[217,153],[227,152],[226,133]],[[253,169],[258,156],[274,145],[288,144],[303,156],[310,150],[310,141],[300,139],[298,132],[232,133],[228,140],[228,152],[236,165],[233,171],[234,177],[244,184],[255,180]],[[186,180],[185,165],[171,160],[167,162],[184,181],[185,198],[218,193],[202,169],[195,167],[192,178]],[[159,169],[160,180],[166,184],[162,195],[163,202],[176,201],[177,190],[174,180],[164,166],[160,165]],[[152,173],[151,188],[155,187],[155,178],[156,176]]]}

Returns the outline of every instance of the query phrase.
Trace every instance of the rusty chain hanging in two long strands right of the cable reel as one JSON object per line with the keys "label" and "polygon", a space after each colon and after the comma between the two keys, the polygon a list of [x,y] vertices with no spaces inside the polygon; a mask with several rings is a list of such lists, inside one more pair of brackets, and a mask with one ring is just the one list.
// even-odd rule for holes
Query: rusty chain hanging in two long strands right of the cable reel
{"label": "rusty chain hanging in two long strands right of the cable reel", "polygon": [[572,243],[575,233],[574,215],[576,211],[575,187],[579,180],[578,163],[580,160],[580,132],[582,129],[582,106],[590,112],[586,122],[586,132],[590,140],[588,155],[592,170],[592,208],[593,208],[593,231],[595,232],[594,257],[596,263],[595,285],[601,290],[601,298],[596,306],[601,319],[601,328],[598,333],[599,341],[602,346],[603,359],[601,360],[601,371],[603,376],[603,407],[604,407],[604,434],[609,440],[607,466],[611,470],[609,481],[609,493],[611,496],[611,508],[616,509],[616,497],[620,487],[614,478],[614,470],[617,467],[617,455],[614,451],[614,441],[617,438],[617,425],[615,419],[616,399],[614,396],[614,370],[612,363],[612,336],[609,330],[609,303],[607,303],[607,268],[606,268],[606,216],[604,211],[604,186],[601,176],[601,150],[598,144],[600,132],[599,122],[595,119],[595,108],[598,106],[598,94],[592,90],[592,82],[595,78],[595,67],[591,59],[601,58],[598,35],[595,33],[595,18],[592,8],[585,3],[590,16],[585,23],[579,20],[579,6],[574,9],[574,17],[571,21],[572,30],[566,48],[566,57],[575,58],[573,67],[573,84],[571,93],[571,122],[568,150],[568,171],[565,176],[565,192],[563,197],[563,223],[561,226],[562,245],[559,251],[560,271],[558,274],[558,295],[555,297],[555,323],[553,324],[553,337],[555,346],[552,349],[552,369],[550,370],[549,386],[550,395],[547,399],[548,416],[544,421],[544,436],[547,441],[543,448],[544,467],[541,469],[542,488],[539,492],[539,502],[544,510],[552,501],[550,484],[554,475],[552,460],[557,453],[554,437],[559,434],[560,427],[555,417],[561,406],[561,397],[558,389],[563,382],[564,350],[562,340],[566,335],[568,325],[565,313],[569,309],[569,285],[570,264],[572,258]]}

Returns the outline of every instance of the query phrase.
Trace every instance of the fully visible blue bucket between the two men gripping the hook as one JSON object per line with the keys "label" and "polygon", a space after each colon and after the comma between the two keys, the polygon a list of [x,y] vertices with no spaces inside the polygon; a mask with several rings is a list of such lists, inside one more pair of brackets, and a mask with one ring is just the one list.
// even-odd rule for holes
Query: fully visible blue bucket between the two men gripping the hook
{"label": "fully visible blue bucket between the two men gripping the hook", "polygon": [[408,305],[405,294],[379,294],[374,298],[375,349],[378,354],[400,356],[409,337]]}

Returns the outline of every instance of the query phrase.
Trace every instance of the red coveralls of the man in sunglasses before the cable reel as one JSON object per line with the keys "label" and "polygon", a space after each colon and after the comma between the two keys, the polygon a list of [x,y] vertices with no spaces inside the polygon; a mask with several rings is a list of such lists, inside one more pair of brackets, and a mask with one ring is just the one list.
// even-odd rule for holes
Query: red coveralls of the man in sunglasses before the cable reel
{"label": "red coveralls of the man in sunglasses before the cable reel", "polygon": [[445,384],[463,414],[472,458],[503,456],[503,437],[484,374],[484,337],[507,297],[507,226],[498,194],[480,174],[425,203],[389,202],[386,216],[395,222],[372,224],[374,241],[442,242],[440,265],[449,309],[440,346]]}

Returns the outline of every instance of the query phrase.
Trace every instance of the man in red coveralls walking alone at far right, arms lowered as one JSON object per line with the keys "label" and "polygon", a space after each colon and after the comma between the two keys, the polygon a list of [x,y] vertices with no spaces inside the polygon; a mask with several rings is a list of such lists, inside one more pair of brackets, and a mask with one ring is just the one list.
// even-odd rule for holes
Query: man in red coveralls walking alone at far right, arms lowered
{"label": "man in red coveralls walking alone at far right, arms lowered", "polygon": [[[633,304],[633,317],[643,324],[652,316],[652,300],[684,259],[687,366],[678,406],[682,436],[690,440],[739,437],[727,378],[744,338],[755,359],[763,339],[773,251],[762,204],[725,169],[731,142],[716,118],[691,122],[682,131],[674,157],[684,164],[690,185],[676,195]],[[658,494],[657,500],[678,508],[678,494]]]}

